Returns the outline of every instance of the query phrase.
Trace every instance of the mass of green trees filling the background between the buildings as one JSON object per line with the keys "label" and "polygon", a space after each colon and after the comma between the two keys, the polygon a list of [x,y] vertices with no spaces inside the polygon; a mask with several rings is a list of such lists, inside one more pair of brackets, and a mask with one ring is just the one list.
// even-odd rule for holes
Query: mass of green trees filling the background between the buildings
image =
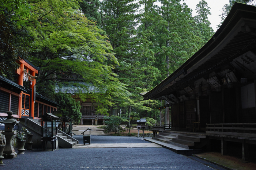
{"label": "mass of green trees filling the background between the buildings", "polygon": [[139,93],[172,74],[213,34],[204,0],[195,17],[181,0],[156,2],[0,0],[0,74],[14,77],[16,61],[26,58],[40,67],[37,92],[57,99],[65,116],[81,116],[77,102],[55,93],[68,87],[82,101],[98,103],[97,113],[148,117],[153,124],[161,102]]}

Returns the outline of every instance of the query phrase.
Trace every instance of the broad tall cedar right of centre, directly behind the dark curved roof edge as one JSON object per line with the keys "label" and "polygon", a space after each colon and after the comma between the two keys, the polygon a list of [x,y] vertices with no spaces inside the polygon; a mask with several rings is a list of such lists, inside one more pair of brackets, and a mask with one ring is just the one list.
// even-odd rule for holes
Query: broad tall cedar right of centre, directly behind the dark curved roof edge
{"label": "broad tall cedar right of centre, directly behind the dark curved roof edge", "polygon": [[157,83],[172,74],[203,44],[187,5],[180,4],[180,0],[161,0],[161,4],[153,41],[155,66],[162,74]]}

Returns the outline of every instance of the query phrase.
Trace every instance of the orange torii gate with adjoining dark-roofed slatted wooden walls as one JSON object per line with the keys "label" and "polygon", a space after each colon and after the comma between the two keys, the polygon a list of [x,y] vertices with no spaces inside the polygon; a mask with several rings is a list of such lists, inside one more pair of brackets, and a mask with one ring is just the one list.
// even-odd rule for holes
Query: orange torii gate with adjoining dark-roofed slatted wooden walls
{"label": "orange torii gate with adjoining dark-roofed slatted wooden walls", "polygon": [[[14,113],[14,118],[39,119],[44,113],[57,110],[57,103],[36,93],[36,74],[39,68],[26,59],[19,61],[20,68],[16,70],[17,82],[0,76],[0,119],[7,116],[7,111]],[[23,82],[30,82],[29,89]]]}

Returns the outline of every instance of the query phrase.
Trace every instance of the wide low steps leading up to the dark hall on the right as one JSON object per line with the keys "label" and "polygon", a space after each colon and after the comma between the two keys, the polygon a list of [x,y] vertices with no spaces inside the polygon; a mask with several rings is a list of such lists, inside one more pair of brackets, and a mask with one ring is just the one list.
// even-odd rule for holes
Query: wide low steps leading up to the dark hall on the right
{"label": "wide low steps leading up to the dark hall on the right", "polygon": [[[191,154],[201,152],[202,148],[206,146],[206,134],[203,132],[166,130],[159,132],[159,134],[152,137],[152,139],[170,144],[172,146],[181,147],[185,150],[191,150]],[[181,148],[179,148],[179,150],[181,150]]]}

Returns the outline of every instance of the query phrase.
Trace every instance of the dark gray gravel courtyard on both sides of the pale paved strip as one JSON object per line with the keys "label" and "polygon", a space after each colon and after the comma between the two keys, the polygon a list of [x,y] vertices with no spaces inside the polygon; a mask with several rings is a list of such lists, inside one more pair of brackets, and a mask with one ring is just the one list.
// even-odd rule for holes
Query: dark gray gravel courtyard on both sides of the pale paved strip
{"label": "dark gray gravel courtyard on both sides of the pale paved strip", "polygon": [[[77,135],[79,136],[79,135]],[[77,137],[74,136],[75,138]],[[102,143],[147,143],[136,137],[91,136]],[[81,139],[79,139],[81,140]],[[16,151],[17,152],[17,151]],[[32,150],[14,159],[3,159],[3,170],[34,169],[182,169],[207,170],[207,162],[197,162],[166,148],[73,148],[55,151]],[[210,165],[214,167],[214,165]],[[222,169],[218,166],[215,169]]]}

